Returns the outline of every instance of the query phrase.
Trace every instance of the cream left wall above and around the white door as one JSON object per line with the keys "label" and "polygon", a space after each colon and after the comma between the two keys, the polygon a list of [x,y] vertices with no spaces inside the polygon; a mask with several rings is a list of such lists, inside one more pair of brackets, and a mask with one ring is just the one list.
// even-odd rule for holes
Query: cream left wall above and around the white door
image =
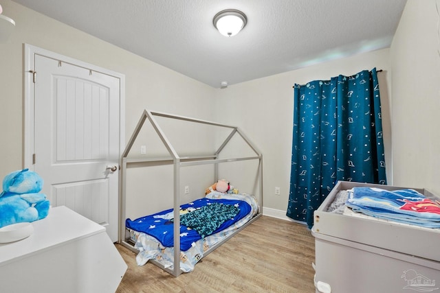
{"label": "cream left wall above and around the white door", "polygon": [[0,179],[23,167],[23,43],[124,74],[126,141],[144,108],[200,119],[212,117],[212,87],[10,0],[1,5],[16,27],[0,43]]}

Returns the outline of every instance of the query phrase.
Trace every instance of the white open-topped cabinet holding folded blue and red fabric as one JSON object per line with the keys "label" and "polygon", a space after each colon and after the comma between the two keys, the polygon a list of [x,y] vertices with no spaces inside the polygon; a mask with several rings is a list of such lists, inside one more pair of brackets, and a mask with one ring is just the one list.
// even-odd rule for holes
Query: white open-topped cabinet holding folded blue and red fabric
{"label": "white open-topped cabinet holding folded blue and red fabric", "polygon": [[327,212],[340,190],[360,186],[408,188],[344,181],[333,188],[314,213],[316,292],[440,293],[440,229]]}

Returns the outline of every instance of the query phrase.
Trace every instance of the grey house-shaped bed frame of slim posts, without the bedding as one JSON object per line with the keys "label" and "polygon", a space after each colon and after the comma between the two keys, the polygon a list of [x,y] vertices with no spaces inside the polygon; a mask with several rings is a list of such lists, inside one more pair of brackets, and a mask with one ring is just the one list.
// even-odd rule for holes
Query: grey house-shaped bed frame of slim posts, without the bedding
{"label": "grey house-shaped bed frame of slim posts, without the bedding", "polygon": [[[171,145],[170,141],[168,141],[166,135],[162,131],[162,129],[159,127],[159,124],[157,123],[157,120],[155,117],[165,117],[168,119],[177,119],[182,121],[190,121],[195,122],[197,124],[205,124],[209,126],[219,126],[221,128],[229,128],[232,130],[229,134],[229,136],[223,141],[223,143],[220,145],[219,149],[214,154],[208,154],[208,155],[195,155],[195,156],[179,156],[177,152],[175,151],[175,148],[173,148],[173,145]],[[140,130],[142,129],[142,126],[144,126],[144,122],[148,119],[153,126],[155,132],[159,136],[159,138],[164,143],[166,149],[168,150],[168,153],[170,154],[171,158],[142,158],[142,159],[130,159],[127,158],[129,155],[129,152],[131,148],[133,147],[133,143],[135,142],[137,135],[140,133]],[[239,136],[247,143],[252,151],[255,153],[255,156],[244,156],[244,157],[236,157],[233,159],[218,159],[219,154],[221,151],[225,148],[226,145],[230,142],[232,137],[234,137],[235,134],[239,134]],[[173,209],[174,209],[174,224],[173,224],[173,231],[174,235],[179,235],[179,225],[180,225],[180,219],[179,219],[179,187],[180,187],[180,169],[181,167],[188,167],[188,166],[195,166],[195,165],[206,165],[206,164],[213,164],[214,165],[214,177],[215,180],[218,180],[218,165],[219,163],[228,163],[228,162],[236,162],[236,161],[245,161],[245,160],[258,160],[258,176],[256,178],[256,181],[258,181],[259,185],[259,196],[257,196],[257,200],[259,202],[259,211],[258,213],[245,225],[241,226],[237,231],[235,231],[232,235],[224,239],[223,241],[219,242],[215,246],[212,246],[208,251],[206,251],[203,255],[205,257],[210,252],[212,252],[215,248],[226,242],[230,237],[235,235],[236,233],[239,233],[245,226],[248,226],[248,224],[252,223],[254,220],[259,218],[262,213],[262,207],[263,207],[263,155],[257,148],[250,142],[250,140],[245,137],[243,132],[239,130],[236,126],[229,126],[225,124],[219,124],[216,122],[211,121],[205,121],[200,119],[192,119],[189,117],[183,117],[183,116],[177,116],[177,115],[171,115],[167,113],[159,113],[159,112],[152,112],[150,110],[144,110],[142,113],[139,122],[137,123],[137,126],[135,130],[133,131],[133,134],[131,135],[131,138],[129,140],[129,143],[126,145],[126,148],[122,154],[121,158],[121,169],[120,169],[120,233],[118,235],[118,242],[122,244],[123,246],[133,250],[137,251],[131,242],[129,241],[129,233],[126,231],[125,228],[125,220],[126,220],[126,169],[131,164],[137,164],[139,163],[148,163],[146,167],[154,165],[154,163],[157,164],[169,164],[174,165],[173,169],[173,178],[174,178],[174,190],[173,190]],[[180,237],[174,237],[174,269],[171,270],[169,268],[164,268],[162,264],[158,263],[157,261],[151,260],[152,263],[155,263],[155,265],[159,266],[166,272],[169,272],[170,274],[173,274],[173,276],[178,277],[179,274],[181,274],[180,270]]]}

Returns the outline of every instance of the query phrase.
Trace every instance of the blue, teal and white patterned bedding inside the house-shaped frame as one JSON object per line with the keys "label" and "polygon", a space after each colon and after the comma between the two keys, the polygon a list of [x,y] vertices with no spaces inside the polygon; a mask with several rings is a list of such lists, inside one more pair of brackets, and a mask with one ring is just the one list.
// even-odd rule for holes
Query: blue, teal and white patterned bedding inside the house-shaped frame
{"label": "blue, teal and white patterned bedding inside the house-shaped frame", "polygon": [[[188,213],[186,213],[188,211]],[[215,220],[208,225],[192,226],[203,222],[197,217],[189,218],[190,213],[208,213]],[[223,213],[224,212],[224,213]],[[213,191],[205,198],[181,205],[180,227],[180,268],[183,272],[194,270],[195,263],[203,253],[218,242],[234,233],[258,213],[258,202],[249,194],[222,194]],[[188,222],[186,222],[188,220]],[[173,269],[173,209],[148,215],[136,220],[126,220],[126,228],[135,248],[140,251],[136,257],[137,265],[142,266],[148,260],[155,259],[165,268]],[[186,222],[192,228],[183,223]],[[206,221],[205,221],[206,222]],[[197,231],[211,233],[202,237]],[[203,233],[202,233],[203,234]]]}

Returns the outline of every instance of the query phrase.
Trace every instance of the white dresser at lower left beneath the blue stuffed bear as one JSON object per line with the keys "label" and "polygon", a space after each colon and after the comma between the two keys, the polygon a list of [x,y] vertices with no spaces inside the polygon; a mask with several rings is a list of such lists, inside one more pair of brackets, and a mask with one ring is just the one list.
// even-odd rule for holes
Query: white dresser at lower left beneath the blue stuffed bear
{"label": "white dresser at lower left beneath the blue stuffed bear", "polygon": [[0,292],[115,292],[127,266],[103,226],[67,207],[32,226],[0,244]]}

